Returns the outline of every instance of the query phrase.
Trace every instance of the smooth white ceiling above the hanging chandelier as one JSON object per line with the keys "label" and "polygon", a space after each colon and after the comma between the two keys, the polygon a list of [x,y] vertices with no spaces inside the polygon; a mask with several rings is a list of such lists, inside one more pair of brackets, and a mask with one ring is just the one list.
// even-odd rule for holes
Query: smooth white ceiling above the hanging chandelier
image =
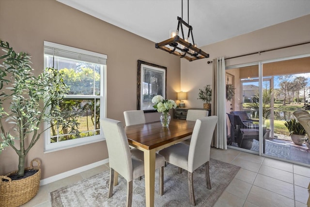
{"label": "smooth white ceiling above the hanging chandelier", "polygon": [[[181,0],[58,1],[155,43],[168,39],[182,16]],[[189,0],[198,47],[309,14],[310,0]],[[187,0],[183,17],[187,22]]]}

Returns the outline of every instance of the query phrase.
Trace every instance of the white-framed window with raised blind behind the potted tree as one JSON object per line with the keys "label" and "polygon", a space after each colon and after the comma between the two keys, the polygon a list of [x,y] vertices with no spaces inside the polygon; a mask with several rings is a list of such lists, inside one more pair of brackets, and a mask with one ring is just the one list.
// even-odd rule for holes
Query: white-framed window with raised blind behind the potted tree
{"label": "white-framed window with raised blind behind the potted tree", "polygon": [[60,107],[68,126],[45,123],[45,151],[103,140],[100,117],[105,117],[107,55],[44,41],[45,67],[63,74],[69,87]]}

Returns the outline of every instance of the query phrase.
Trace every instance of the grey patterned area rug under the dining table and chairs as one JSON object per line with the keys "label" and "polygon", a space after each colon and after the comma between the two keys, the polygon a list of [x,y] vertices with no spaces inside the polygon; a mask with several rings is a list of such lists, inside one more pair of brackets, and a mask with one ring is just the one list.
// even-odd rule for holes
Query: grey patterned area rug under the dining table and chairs
{"label": "grey patterned area rug under the dining table and chairs", "polygon": [[[240,167],[210,159],[211,190],[206,187],[204,168],[193,174],[196,206],[212,207]],[[119,184],[108,199],[109,171],[50,192],[52,207],[123,207],[126,204],[126,180],[119,176]],[[158,170],[155,172],[155,207],[188,207],[187,171],[178,174],[178,168],[167,164],[164,168],[164,195],[158,194]],[[133,182],[133,207],[145,206],[144,178]]]}

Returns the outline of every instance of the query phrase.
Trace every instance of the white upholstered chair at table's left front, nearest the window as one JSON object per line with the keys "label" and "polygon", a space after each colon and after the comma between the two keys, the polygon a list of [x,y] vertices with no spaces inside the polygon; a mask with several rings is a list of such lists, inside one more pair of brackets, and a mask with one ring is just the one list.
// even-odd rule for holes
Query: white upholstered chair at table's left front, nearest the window
{"label": "white upholstered chair at table's left front, nearest the window", "polygon": [[[113,194],[114,171],[122,175],[127,181],[127,207],[132,203],[132,181],[133,179],[144,175],[143,152],[138,149],[129,148],[127,136],[125,134],[123,123],[113,119],[100,119],[103,129],[108,153],[110,166],[109,181],[109,198]],[[163,156],[156,154],[155,168],[159,169],[159,194],[163,195],[164,180],[164,163]]]}

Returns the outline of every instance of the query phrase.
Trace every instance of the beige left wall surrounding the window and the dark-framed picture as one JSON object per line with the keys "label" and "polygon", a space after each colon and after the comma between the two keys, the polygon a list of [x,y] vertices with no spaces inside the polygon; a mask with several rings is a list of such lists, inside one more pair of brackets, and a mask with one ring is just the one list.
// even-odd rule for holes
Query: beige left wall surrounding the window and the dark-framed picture
{"label": "beige left wall surrounding the window and the dark-framed picture", "polygon": [[[108,55],[107,117],[124,121],[123,111],[137,109],[138,59],[167,67],[167,97],[180,91],[180,59],[155,48],[155,43],[84,14],[55,0],[0,0],[0,38],[16,51],[32,56],[33,68],[43,71],[43,41]],[[158,113],[146,114],[147,121]],[[42,160],[42,179],[107,159],[105,142],[44,153],[44,139],[31,149]],[[0,155],[0,175],[17,169],[17,156],[8,148]]]}

